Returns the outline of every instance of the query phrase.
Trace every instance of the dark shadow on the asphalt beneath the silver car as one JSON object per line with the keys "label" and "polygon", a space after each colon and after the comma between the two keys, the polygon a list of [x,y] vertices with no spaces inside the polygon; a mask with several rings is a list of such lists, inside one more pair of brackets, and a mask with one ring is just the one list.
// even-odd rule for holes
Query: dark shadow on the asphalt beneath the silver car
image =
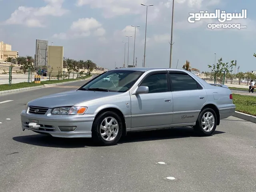
{"label": "dark shadow on the asphalt beneath the silver car", "polygon": [[[215,131],[213,135],[225,132]],[[164,140],[174,138],[197,137],[190,127],[171,128],[164,130],[152,130],[143,132],[130,132],[121,138],[118,144],[141,142],[150,140]],[[57,138],[43,134],[34,134],[26,136],[17,136],[12,138],[14,141],[30,144],[34,146],[52,147],[52,148],[86,148],[100,147],[95,144],[91,138]]]}

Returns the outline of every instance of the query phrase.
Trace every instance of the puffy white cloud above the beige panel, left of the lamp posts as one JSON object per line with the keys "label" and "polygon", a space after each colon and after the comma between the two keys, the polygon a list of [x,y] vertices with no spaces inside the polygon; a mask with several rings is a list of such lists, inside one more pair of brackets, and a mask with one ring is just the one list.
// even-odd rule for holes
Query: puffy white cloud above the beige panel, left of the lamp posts
{"label": "puffy white cloud above the beige panel, left of the lamp posts", "polygon": [[104,36],[106,30],[102,28],[102,24],[94,18],[80,18],[74,21],[70,26],[70,30],[60,34],[54,34],[54,38],[69,39],[69,38],[82,38],[90,36]]}

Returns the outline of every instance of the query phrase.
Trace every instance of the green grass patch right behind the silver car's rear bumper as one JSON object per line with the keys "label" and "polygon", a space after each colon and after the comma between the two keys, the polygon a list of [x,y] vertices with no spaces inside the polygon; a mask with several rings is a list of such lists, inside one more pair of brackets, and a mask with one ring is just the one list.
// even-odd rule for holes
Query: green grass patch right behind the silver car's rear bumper
{"label": "green grass patch right behind the silver car's rear bumper", "polygon": [[256,97],[246,95],[233,95],[233,103],[236,105],[236,111],[256,116]]}

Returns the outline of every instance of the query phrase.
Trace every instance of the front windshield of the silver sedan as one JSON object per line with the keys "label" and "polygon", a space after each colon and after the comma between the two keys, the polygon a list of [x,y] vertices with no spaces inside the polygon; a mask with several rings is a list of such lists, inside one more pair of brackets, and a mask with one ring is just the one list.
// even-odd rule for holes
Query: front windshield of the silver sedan
{"label": "front windshield of the silver sedan", "polygon": [[[126,92],[142,75],[141,71],[113,70],[98,76],[79,90],[99,90]],[[106,78],[109,78],[106,80]]]}

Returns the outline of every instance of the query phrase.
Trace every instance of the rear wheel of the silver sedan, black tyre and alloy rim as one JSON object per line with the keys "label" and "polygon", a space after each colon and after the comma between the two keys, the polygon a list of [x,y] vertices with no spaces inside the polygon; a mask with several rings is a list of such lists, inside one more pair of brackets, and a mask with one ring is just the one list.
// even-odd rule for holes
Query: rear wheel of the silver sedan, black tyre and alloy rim
{"label": "rear wheel of the silver sedan, black tyre and alloy rim", "polygon": [[193,126],[194,131],[199,136],[211,136],[212,133],[216,130],[216,127],[217,115],[211,108],[205,108],[204,110],[202,110],[196,120],[196,125]]}

